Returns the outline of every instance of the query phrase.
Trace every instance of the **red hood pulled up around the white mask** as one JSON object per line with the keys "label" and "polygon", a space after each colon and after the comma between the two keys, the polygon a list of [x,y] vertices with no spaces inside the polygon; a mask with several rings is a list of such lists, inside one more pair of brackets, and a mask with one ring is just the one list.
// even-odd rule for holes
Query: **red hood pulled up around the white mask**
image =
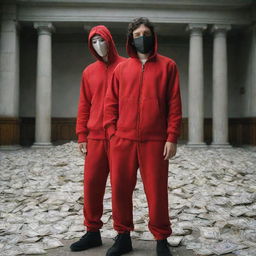
{"label": "red hood pulled up around the white mask", "polygon": [[92,46],[92,37],[95,35],[100,35],[108,44],[108,58],[109,58],[109,62],[112,63],[113,61],[115,61],[115,59],[118,56],[118,52],[114,43],[114,40],[112,38],[112,35],[110,33],[110,31],[103,25],[99,25],[99,26],[95,26],[91,29],[89,36],[88,36],[88,47],[91,51],[91,53],[99,60],[99,61],[103,61],[102,57],[99,56],[96,51],[94,50],[93,46]]}

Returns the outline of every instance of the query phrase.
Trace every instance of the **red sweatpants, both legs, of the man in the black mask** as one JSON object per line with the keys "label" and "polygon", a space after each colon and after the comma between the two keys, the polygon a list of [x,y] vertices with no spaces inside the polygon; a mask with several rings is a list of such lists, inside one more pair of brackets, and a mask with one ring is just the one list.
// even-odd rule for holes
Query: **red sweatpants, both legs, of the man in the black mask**
{"label": "red sweatpants, both legs, of the man in the black mask", "polygon": [[164,160],[165,141],[138,142],[114,135],[110,140],[110,176],[114,229],[118,233],[134,230],[132,194],[137,170],[149,208],[148,228],[156,240],[171,235],[168,211],[168,166]]}

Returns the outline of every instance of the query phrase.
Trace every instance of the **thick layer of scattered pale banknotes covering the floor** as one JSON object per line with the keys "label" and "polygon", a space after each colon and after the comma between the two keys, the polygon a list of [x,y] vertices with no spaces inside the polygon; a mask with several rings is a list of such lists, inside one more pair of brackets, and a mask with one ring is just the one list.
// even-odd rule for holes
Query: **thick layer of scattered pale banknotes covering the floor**
{"label": "thick layer of scattered pale banknotes covering the floor", "polygon": [[[0,153],[0,251],[42,254],[85,234],[83,169],[77,143]],[[171,246],[197,255],[256,255],[256,154],[246,148],[179,145],[169,161]],[[138,170],[133,239],[154,240]],[[104,197],[103,237],[114,237],[111,187]]]}

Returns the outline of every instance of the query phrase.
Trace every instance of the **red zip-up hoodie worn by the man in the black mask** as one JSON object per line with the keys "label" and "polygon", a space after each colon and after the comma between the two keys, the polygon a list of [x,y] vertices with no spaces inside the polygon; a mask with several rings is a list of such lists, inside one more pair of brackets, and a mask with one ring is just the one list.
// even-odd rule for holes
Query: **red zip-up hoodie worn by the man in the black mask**
{"label": "red zip-up hoodie worn by the man in the black mask", "polygon": [[127,39],[130,58],[120,63],[112,76],[104,102],[103,126],[110,138],[166,140],[177,143],[181,133],[182,105],[176,63],[154,50],[142,65]]}

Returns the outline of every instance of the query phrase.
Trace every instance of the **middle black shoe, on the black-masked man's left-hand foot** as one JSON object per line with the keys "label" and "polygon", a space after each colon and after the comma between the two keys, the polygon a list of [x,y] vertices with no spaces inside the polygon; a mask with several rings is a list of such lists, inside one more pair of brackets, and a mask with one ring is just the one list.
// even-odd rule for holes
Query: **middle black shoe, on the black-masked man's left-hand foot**
{"label": "middle black shoe, on the black-masked man's left-hand foot", "polygon": [[118,234],[115,237],[115,243],[108,249],[106,256],[120,256],[132,250],[130,233]]}

